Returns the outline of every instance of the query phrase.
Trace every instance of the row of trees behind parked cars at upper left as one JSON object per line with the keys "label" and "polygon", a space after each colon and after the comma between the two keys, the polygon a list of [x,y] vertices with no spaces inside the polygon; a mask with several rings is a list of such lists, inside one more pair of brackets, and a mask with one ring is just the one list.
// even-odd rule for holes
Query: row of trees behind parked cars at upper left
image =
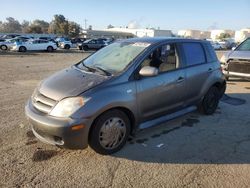
{"label": "row of trees behind parked cars at upper left", "polygon": [[77,37],[81,29],[78,23],[68,21],[60,14],[54,15],[51,22],[36,19],[32,22],[24,20],[20,23],[13,17],[6,18],[4,22],[0,21],[0,33],[48,33]]}

